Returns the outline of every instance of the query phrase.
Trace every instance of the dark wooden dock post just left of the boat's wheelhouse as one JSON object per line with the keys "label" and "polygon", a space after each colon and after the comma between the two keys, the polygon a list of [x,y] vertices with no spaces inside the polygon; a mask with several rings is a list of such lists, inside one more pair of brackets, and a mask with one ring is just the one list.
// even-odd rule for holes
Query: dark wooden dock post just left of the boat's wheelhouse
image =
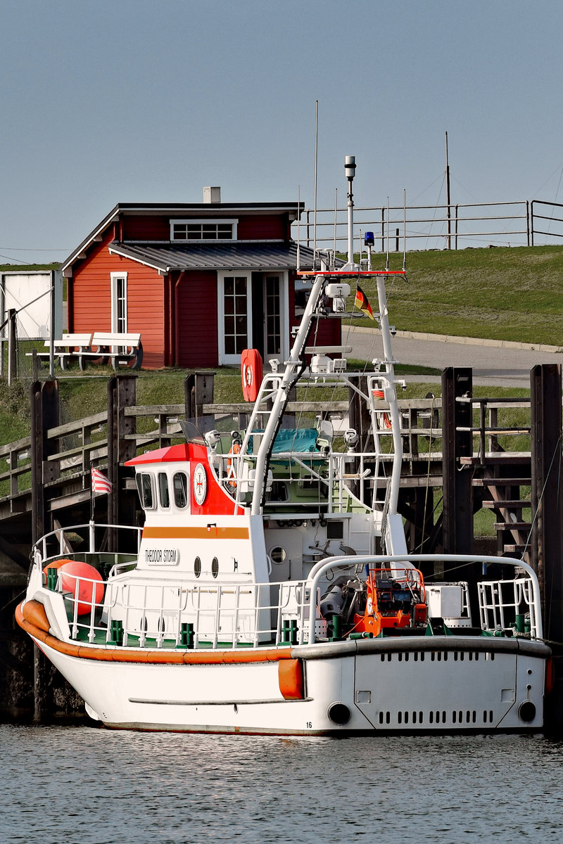
{"label": "dark wooden dock post just left of the boat's wheelhouse", "polygon": [[[137,403],[137,376],[116,375],[107,383],[107,473],[111,493],[107,498],[107,522],[111,525],[135,524],[136,494],[125,489],[126,460],[137,454],[134,440],[127,439],[137,430],[136,418],[126,416],[125,408]],[[114,531],[109,532],[108,547],[115,550]]]}

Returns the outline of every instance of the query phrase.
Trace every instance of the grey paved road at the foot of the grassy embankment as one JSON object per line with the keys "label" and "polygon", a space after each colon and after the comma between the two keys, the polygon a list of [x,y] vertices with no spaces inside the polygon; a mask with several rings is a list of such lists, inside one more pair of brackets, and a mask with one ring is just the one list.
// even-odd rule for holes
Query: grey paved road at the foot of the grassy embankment
{"label": "grey paved road at the foot of the grassy embankment", "polygon": [[[373,360],[382,357],[381,334],[374,328],[351,327],[343,330],[343,344],[352,346],[352,357]],[[563,348],[531,346],[522,343],[448,337],[441,334],[397,332],[393,353],[402,364],[432,366],[471,366],[474,383],[498,387],[529,387],[530,370],[537,364],[563,364]],[[431,376],[409,376],[409,381],[432,381]]]}

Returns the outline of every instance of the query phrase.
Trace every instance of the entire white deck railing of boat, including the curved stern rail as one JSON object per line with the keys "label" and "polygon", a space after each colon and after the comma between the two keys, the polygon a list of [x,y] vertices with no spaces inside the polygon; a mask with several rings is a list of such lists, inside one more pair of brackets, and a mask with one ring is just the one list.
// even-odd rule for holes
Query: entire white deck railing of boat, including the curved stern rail
{"label": "entire white deck railing of boat, including the curved stern rail", "polygon": [[[277,583],[187,583],[176,578],[158,581],[128,576],[127,571],[103,582],[103,598],[96,600],[100,581],[62,575],[57,584],[68,609],[71,636],[82,634],[90,643],[114,641],[138,647],[181,646],[189,634],[189,647],[258,647],[263,644],[313,643],[316,628],[326,623],[320,614],[322,588],[328,578],[348,571],[364,575],[365,567],[387,568],[391,574],[416,576],[415,565],[441,562],[464,566],[472,563],[512,565],[526,572],[524,577],[478,584],[479,615],[483,630],[523,630],[523,616],[529,614],[531,638],[542,637],[538,579],[522,560],[471,555],[419,555],[417,557],[356,556],[319,560],[307,581]],[[63,582],[63,577],[65,582]],[[73,584],[69,586],[69,580]],[[74,586],[74,583],[76,586]],[[86,607],[86,609],[84,609]],[[521,616],[521,619],[517,619]],[[324,635],[322,636],[324,637]],[[183,642],[185,644],[185,642]]]}

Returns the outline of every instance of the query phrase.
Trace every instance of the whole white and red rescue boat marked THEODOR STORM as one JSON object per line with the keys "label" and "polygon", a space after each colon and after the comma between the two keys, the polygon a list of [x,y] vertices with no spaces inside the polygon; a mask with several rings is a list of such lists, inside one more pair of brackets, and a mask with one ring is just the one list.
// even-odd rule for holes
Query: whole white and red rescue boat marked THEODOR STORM
{"label": "whole white and red rescue boat marked THEODOR STORM", "polygon": [[[145,515],[138,536],[92,521],[72,528],[88,552],[63,554],[60,531],[35,546],[16,618],[107,727],[543,726],[550,651],[534,571],[522,560],[408,553],[391,273],[354,262],[354,168],[349,156],[348,261],[325,257],[304,274],[310,293],[289,360],[262,375],[259,355],[242,355],[246,430],[203,434],[186,422],[185,442],[131,460]],[[308,343],[319,320],[350,317],[350,284],[368,308],[366,275],[376,278],[383,357],[354,372],[343,347]],[[369,413],[368,436],[335,433],[311,403],[348,390]],[[103,530],[125,550],[100,550]],[[443,571],[450,580],[435,576]]]}

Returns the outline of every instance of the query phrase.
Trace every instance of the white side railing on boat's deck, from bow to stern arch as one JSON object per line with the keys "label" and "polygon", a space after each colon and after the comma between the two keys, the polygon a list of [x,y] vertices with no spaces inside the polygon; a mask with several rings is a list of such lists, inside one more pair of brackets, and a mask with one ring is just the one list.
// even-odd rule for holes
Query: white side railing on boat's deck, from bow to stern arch
{"label": "white side railing on boat's deck, from bow to stern arch", "polygon": [[[100,584],[104,595],[96,600]],[[195,648],[289,643],[291,622],[292,643],[302,644],[308,630],[305,581],[187,585],[179,579],[133,580],[124,574],[100,582],[57,571],[57,582],[51,587],[62,592],[71,637],[85,636],[90,644],[114,641],[116,623],[121,625],[118,643],[138,647],[165,647],[165,641],[180,646],[187,625],[191,626],[190,647]]]}

